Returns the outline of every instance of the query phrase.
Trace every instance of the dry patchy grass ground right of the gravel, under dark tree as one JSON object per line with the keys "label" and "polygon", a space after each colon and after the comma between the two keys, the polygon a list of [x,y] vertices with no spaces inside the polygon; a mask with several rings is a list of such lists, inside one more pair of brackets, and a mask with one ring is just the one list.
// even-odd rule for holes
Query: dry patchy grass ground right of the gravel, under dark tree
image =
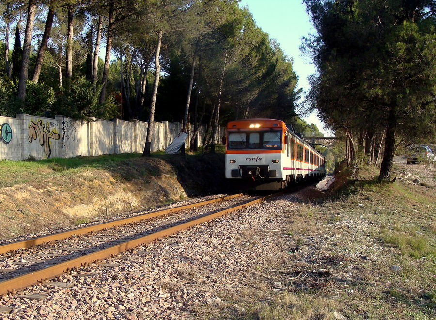
{"label": "dry patchy grass ground right of the gravel, under dark tree", "polygon": [[320,320],[337,311],[356,320],[436,319],[434,190],[401,182],[337,190],[281,213],[278,258],[255,267],[244,289],[219,291],[224,302],[200,308],[198,318]]}

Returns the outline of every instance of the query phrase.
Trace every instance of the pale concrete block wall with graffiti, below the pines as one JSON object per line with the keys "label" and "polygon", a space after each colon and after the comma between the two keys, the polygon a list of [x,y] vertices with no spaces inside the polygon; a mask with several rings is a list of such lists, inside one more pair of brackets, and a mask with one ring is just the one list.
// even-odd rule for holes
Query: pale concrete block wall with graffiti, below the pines
{"label": "pale concrete block wall with graffiti, below the pines", "polygon": [[[17,114],[16,118],[0,116],[0,160],[25,160],[29,158],[70,158],[98,156],[112,153],[142,152],[147,133],[147,122],[93,119],[80,122],[64,116],[55,119]],[[178,122],[155,122],[152,151],[165,149],[179,134]],[[187,147],[192,137],[189,125]],[[225,129],[220,127],[215,141],[221,143]],[[202,144],[205,128],[199,130]]]}

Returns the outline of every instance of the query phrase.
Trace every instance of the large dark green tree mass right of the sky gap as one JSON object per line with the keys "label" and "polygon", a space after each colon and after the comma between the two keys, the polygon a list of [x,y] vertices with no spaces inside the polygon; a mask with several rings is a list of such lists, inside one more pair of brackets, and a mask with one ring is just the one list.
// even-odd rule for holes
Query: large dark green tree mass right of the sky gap
{"label": "large dark green tree mass right of the sky gap", "polygon": [[[305,39],[317,75],[309,100],[390,176],[399,141],[435,141],[434,0],[304,0],[317,34]],[[379,147],[377,147],[379,146]],[[384,146],[384,147],[382,147]]]}

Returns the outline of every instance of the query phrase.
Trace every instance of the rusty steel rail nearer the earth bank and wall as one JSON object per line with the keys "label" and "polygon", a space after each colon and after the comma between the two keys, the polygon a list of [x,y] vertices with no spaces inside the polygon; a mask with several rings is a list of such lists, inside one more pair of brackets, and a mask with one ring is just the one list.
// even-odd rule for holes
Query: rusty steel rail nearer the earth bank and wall
{"label": "rusty steel rail nearer the earth bank and wall", "polygon": [[134,217],[126,217],[126,218],[112,220],[112,221],[101,223],[101,224],[94,224],[94,225],[84,226],[81,228],[70,229],[70,230],[66,230],[66,231],[52,233],[52,234],[45,235],[45,236],[40,236],[40,237],[30,238],[30,239],[26,239],[26,240],[18,240],[15,242],[5,243],[5,244],[0,245],[0,254],[8,252],[8,251],[12,251],[12,250],[17,250],[17,249],[22,249],[22,248],[30,248],[30,247],[33,247],[35,245],[39,245],[39,244],[43,244],[43,243],[47,243],[47,242],[62,240],[62,239],[71,237],[73,235],[83,235],[86,233],[90,233],[92,231],[100,231],[100,230],[112,228],[114,226],[135,223],[135,222],[139,222],[139,221],[154,218],[154,217],[159,217],[159,216],[162,216],[162,215],[165,215],[168,213],[174,213],[174,212],[178,212],[181,210],[186,210],[186,209],[200,207],[200,206],[204,206],[204,205],[215,203],[215,202],[233,199],[233,198],[236,198],[236,197],[239,197],[242,195],[244,195],[244,194],[237,193],[237,194],[233,194],[233,195],[227,195],[224,197],[199,201],[199,202],[191,203],[191,204],[184,205],[184,206],[159,210],[159,211],[150,212],[150,213],[143,213],[143,214],[140,214],[140,215],[137,215]]}

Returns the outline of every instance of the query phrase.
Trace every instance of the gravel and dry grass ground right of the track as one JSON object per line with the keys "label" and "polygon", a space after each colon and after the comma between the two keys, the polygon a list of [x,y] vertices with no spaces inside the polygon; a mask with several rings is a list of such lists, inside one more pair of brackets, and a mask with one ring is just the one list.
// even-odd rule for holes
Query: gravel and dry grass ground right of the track
{"label": "gravel and dry grass ground right of the track", "polygon": [[394,175],[339,175],[334,196],[308,186],[72,270],[1,297],[0,319],[434,319],[435,168]]}

